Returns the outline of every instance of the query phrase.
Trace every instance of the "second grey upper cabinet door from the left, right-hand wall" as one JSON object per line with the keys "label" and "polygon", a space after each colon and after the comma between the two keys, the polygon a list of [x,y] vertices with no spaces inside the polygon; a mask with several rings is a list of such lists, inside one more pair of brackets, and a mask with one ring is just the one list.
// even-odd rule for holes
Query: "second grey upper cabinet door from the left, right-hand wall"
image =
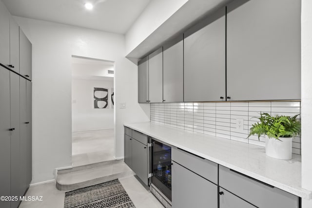
{"label": "second grey upper cabinet door from the left, right-hand wall", "polygon": [[162,102],[162,47],[148,56],[149,100]]}

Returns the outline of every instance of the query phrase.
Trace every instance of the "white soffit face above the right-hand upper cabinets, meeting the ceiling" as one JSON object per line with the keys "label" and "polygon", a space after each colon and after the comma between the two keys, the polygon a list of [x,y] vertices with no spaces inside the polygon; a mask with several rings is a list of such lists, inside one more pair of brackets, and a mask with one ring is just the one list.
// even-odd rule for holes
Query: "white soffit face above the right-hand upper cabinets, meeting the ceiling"
{"label": "white soffit face above the right-hand upper cabinets, meeting the ceiling", "polygon": [[188,0],[151,0],[142,14],[127,31],[126,55],[151,35]]}

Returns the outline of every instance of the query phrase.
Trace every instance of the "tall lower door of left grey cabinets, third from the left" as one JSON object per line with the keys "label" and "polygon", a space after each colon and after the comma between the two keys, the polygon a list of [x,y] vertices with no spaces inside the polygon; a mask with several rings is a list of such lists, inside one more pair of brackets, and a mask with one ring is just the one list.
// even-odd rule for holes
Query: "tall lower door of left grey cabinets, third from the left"
{"label": "tall lower door of left grey cabinets, third from the left", "polygon": [[26,79],[20,76],[20,195],[27,189],[27,116],[26,116]]}

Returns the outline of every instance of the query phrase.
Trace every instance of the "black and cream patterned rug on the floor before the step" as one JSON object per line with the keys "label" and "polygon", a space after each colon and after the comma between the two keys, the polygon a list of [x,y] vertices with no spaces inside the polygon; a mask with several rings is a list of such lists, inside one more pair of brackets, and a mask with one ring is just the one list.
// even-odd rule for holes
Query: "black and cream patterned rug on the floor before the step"
{"label": "black and cream patterned rug on the floor before the step", "polygon": [[65,193],[64,208],[135,208],[119,180]]}

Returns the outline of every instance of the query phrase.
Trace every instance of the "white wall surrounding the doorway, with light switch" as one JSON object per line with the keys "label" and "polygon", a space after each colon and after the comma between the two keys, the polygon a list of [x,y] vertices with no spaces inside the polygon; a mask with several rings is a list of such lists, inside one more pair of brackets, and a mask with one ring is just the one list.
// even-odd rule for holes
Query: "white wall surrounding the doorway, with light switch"
{"label": "white wall surrounding the doorway, with light switch", "polygon": [[[54,178],[71,162],[72,55],[115,61],[116,157],[123,156],[123,123],[149,121],[149,104],[137,103],[137,66],[125,58],[124,36],[14,17],[33,44],[33,180]],[[118,103],[126,102],[126,109]]]}

